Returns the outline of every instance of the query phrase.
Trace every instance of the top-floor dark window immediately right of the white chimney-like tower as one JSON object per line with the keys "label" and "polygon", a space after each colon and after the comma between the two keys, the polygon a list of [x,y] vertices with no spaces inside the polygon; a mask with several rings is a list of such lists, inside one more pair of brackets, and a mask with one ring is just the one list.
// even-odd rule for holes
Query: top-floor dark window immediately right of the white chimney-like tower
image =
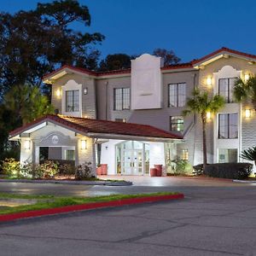
{"label": "top-floor dark window immediately right of the white chimney-like tower", "polygon": [[180,108],[186,104],[186,84],[169,84],[169,108]]}

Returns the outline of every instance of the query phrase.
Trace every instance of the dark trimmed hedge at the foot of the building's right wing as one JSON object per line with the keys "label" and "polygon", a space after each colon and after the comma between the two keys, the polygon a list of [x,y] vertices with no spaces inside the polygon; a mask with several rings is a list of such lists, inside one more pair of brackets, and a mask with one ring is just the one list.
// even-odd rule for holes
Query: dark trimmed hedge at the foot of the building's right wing
{"label": "dark trimmed hedge at the foot of the building's right wing", "polygon": [[207,165],[204,173],[209,177],[244,179],[252,170],[253,165],[249,163],[223,163]]}

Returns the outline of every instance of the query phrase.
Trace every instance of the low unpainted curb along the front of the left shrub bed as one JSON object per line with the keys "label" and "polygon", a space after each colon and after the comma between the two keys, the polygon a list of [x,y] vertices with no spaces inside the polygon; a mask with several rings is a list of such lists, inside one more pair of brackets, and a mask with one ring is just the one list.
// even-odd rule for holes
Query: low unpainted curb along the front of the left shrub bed
{"label": "low unpainted curb along the front of the left shrub bed", "polygon": [[99,185],[99,186],[131,186],[131,182],[119,181],[69,181],[69,180],[30,180],[30,179],[0,179],[0,183],[52,183],[52,184],[70,184],[70,185]]}

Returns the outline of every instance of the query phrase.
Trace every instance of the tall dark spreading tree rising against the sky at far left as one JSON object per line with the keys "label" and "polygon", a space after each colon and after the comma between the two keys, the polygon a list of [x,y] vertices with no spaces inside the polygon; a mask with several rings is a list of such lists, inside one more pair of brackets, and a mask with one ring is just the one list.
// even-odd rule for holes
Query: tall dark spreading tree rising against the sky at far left
{"label": "tall dark spreading tree rising against the sky at far left", "polygon": [[89,9],[77,0],[38,3],[32,11],[0,13],[0,100],[14,85],[39,86],[45,73],[64,64],[95,68],[102,34],[78,32],[90,26]]}

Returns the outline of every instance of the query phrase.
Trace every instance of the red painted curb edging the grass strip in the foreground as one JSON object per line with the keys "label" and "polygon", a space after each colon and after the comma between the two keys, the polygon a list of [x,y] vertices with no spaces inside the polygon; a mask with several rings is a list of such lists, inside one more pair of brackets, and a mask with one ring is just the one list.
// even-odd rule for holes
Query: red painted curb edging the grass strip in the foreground
{"label": "red painted curb edging the grass strip in the foreground", "polygon": [[143,196],[143,197],[137,197],[137,198],[128,198],[128,199],[122,199],[122,200],[116,200],[116,201],[93,202],[93,203],[87,203],[83,205],[57,207],[57,208],[34,210],[34,211],[28,211],[28,212],[4,214],[4,215],[0,215],[0,222],[11,221],[11,220],[20,219],[20,218],[32,218],[32,217],[39,217],[44,215],[54,215],[54,214],[65,213],[65,212],[84,211],[84,210],[97,209],[97,208],[103,208],[103,207],[121,207],[126,205],[140,204],[144,202],[167,201],[167,200],[175,200],[175,199],[183,199],[183,198],[184,198],[183,194],[153,195],[153,196]]}

